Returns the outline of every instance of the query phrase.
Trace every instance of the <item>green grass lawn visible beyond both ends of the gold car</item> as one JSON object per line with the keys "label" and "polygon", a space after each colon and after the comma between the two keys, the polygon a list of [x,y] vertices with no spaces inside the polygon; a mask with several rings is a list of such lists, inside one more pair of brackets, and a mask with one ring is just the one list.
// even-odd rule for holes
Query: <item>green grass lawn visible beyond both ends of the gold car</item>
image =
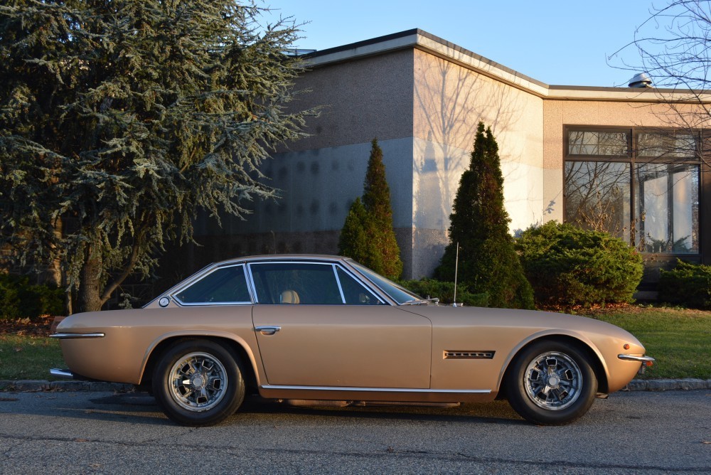
{"label": "green grass lawn visible beyond both ends of the gold car", "polygon": [[[711,311],[629,306],[578,313],[621,326],[642,342],[657,362],[640,378],[711,379]],[[65,366],[58,341],[0,334],[0,380],[52,379],[49,369]]]}

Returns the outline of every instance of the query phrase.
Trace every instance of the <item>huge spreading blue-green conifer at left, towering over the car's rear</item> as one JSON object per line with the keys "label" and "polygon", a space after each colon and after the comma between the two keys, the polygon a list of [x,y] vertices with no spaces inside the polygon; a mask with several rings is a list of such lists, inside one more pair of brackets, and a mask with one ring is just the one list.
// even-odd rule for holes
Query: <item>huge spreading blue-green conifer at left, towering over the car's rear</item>
{"label": "huge spreading blue-green conifer at left, towering over the car's rear", "polygon": [[0,6],[0,246],[59,262],[98,310],[200,211],[273,196],[258,167],[301,136],[284,112],[297,31],[235,0],[14,0]]}

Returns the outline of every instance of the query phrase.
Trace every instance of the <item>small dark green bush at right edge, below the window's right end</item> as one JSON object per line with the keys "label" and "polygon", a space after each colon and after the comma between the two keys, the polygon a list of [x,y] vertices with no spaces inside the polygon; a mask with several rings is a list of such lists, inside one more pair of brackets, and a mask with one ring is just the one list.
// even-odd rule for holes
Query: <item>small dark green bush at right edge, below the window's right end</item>
{"label": "small dark green bush at right edge, below the window's right end", "polygon": [[658,300],[711,310],[711,266],[678,260],[674,269],[661,269]]}

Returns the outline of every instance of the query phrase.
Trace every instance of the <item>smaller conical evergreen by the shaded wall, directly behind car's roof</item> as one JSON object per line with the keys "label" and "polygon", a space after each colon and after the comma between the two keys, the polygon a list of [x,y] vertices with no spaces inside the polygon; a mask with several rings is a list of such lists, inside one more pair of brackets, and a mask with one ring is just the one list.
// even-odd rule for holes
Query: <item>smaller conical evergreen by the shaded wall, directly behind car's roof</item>
{"label": "smaller conical evergreen by the shaded wall, directly behind car's roof", "polygon": [[352,257],[378,274],[398,279],[402,274],[400,247],[392,229],[390,187],[385,179],[383,151],[373,139],[363,183],[363,202],[356,198],[346,217],[338,253]]}

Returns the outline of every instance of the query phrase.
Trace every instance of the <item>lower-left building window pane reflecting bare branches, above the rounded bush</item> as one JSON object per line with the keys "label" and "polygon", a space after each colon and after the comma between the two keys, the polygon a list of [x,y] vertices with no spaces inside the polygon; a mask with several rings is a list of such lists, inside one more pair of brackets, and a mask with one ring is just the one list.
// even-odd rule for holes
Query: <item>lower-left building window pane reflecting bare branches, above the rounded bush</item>
{"label": "lower-left building window pane reflecting bare branches, above the rounded bush", "polygon": [[565,162],[565,222],[606,231],[629,242],[630,165]]}

